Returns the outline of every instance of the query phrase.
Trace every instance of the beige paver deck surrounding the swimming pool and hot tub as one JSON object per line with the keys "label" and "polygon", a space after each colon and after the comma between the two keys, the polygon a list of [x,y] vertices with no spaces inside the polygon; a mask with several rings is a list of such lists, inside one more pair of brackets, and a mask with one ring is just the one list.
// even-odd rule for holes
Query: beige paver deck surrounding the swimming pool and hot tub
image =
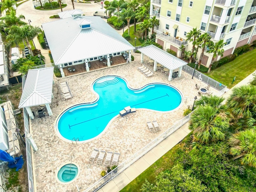
{"label": "beige paver deck surrounding the swimming pool and hot tub", "polygon": [[[35,186],[38,192],[77,192],[85,190],[91,184],[101,178],[100,172],[106,170],[104,164],[90,163],[88,161],[90,154],[94,149],[119,152],[118,164],[124,162],[143,146],[154,140],[162,132],[170,128],[176,121],[183,118],[183,110],[194,102],[194,96],[198,96],[198,90],[195,89],[197,83],[201,88],[207,85],[200,80],[191,79],[191,75],[182,71],[180,78],[175,78],[171,82],[168,76],[155,72],[154,76],[147,78],[138,70],[140,63],[140,54],[132,54],[134,62],[104,68],[68,76],[65,78],[54,78],[53,85],[54,98],[52,99],[52,116],[44,118],[35,118],[31,121],[32,134],[38,151],[33,153],[33,172]],[[145,60],[146,61],[146,58]],[[152,69],[152,66],[150,66]],[[97,99],[96,94],[92,92],[92,83],[97,78],[105,75],[117,75],[125,78],[131,88],[140,88],[146,84],[162,82],[170,84],[180,90],[184,100],[181,105],[171,112],[156,112],[152,110],[136,109],[135,113],[124,117],[119,115],[108,124],[106,131],[95,140],[84,142],[82,144],[72,144],[61,140],[54,129],[54,122],[57,116],[66,108],[79,103],[94,102]],[[72,95],[68,100],[62,100],[58,92],[57,83],[68,82]],[[217,94],[218,91],[210,88],[210,92]],[[198,96],[199,98],[199,96]],[[186,103],[185,103],[186,101]],[[146,122],[157,120],[161,128],[158,132],[150,132]],[[56,181],[55,175],[60,165],[71,162],[71,156],[80,167],[80,174],[74,182],[70,184],[60,184]],[[106,155],[103,159],[103,162]]]}

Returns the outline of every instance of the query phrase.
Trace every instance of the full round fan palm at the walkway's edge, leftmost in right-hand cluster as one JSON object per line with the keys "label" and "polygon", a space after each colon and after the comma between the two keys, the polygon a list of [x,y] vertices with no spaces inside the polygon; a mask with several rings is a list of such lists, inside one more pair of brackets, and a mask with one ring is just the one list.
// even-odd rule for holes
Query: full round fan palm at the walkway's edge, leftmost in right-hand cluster
{"label": "full round fan palm at the walkway's edge, leftmost in right-hand cluster", "polygon": [[218,110],[210,105],[196,108],[189,127],[193,131],[195,141],[208,144],[224,140],[229,122],[218,113]]}

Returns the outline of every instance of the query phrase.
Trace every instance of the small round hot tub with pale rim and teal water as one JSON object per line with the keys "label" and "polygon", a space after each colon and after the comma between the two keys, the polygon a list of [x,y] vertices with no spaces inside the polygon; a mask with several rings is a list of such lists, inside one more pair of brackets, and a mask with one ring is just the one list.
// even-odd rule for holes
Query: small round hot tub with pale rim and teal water
{"label": "small round hot tub with pale rim and teal water", "polygon": [[78,176],[78,166],[75,164],[65,164],[58,171],[57,181],[62,184],[68,184]]}

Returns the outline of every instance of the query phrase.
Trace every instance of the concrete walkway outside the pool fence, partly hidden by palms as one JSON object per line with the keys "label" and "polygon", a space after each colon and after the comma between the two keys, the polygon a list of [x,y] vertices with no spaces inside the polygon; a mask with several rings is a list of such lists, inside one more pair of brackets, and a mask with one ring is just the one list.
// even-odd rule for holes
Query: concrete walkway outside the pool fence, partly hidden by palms
{"label": "concrete walkway outside the pool fence, partly hidden by palms", "polygon": [[[256,72],[256,70],[254,72]],[[248,84],[250,80],[253,78],[252,74],[244,78],[244,80],[236,84],[233,88]],[[223,97],[228,98],[228,96],[230,96],[230,94],[232,93],[233,88],[228,90],[228,92],[226,92],[223,95]],[[176,144],[178,144],[183,138],[185,138],[190,133],[188,126],[189,126],[189,122],[187,122],[181,128],[176,130],[168,138],[163,140],[160,144],[154,147],[150,152],[142,156],[142,158],[137,160],[134,164],[132,164],[130,167],[124,170],[124,172],[122,172],[116,178],[108,182],[98,191],[99,192],[118,192],[122,190],[132,180],[138,177],[142,172],[144,172],[148,167],[150,167],[166,152],[168,152]]]}

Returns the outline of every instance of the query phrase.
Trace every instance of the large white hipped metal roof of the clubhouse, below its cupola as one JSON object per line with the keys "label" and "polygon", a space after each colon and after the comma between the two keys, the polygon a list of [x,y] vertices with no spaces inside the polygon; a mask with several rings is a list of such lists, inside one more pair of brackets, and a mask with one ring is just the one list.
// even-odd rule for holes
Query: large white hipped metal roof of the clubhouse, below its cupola
{"label": "large white hipped metal roof of the clubhouse, below its cupola", "polygon": [[[91,28],[82,30],[79,24],[85,20]],[[70,17],[42,26],[55,65],[134,49],[100,17]]]}

